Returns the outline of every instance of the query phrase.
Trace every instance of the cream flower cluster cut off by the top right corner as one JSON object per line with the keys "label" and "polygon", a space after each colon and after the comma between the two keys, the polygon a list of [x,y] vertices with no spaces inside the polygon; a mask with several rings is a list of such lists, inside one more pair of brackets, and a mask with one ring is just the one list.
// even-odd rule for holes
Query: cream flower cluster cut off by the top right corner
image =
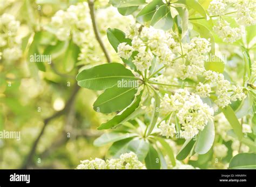
{"label": "cream flower cluster cut off by the top right corner", "polygon": [[235,20],[239,25],[250,26],[256,24],[256,2],[255,1],[238,1],[235,3],[237,18]]}

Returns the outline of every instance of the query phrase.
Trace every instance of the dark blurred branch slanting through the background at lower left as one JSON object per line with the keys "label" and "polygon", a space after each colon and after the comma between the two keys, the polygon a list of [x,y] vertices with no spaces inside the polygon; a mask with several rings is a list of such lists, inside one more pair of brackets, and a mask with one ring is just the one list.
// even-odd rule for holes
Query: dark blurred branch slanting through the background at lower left
{"label": "dark blurred branch slanting through the background at lower left", "polygon": [[33,146],[29,152],[29,155],[28,157],[26,158],[24,164],[22,165],[21,169],[27,169],[28,166],[31,164],[31,161],[32,161],[32,158],[33,158],[33,155],[35,154],[36,152],[36,148],[37,148],[37,145],[38,145],[38,142],[39,140],[41,139],[42,135],[44,134],[44,130],[45,130],[45,127],[49,124],[49,122],[52,120],[52,119],[55,119],[56,117],[59,117],[63,114],[65,114],[69,108],[72,107],[73,105],[73,102],[75,101],[75,98],[76,98],[76,94],[78,93],[78,90],[79,90],[79,86],[78,85],[75,85],[75,88],[68,100],[68,102],[66,103],[66,106],[65,108],[63,108],[62,110],[60,110],[59,112],[56,112],[55,114],[53,114],[52,116],[44,119],[44,126],[43,128],[41,129],[41,132],[38,134],[35,142],[33,142]]}

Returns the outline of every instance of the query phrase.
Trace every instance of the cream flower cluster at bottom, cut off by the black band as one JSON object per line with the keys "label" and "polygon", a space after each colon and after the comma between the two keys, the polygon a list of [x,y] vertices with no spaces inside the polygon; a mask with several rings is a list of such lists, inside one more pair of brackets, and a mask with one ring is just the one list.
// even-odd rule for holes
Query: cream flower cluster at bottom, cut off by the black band
{"label": "cream flower cluster at bottom, cut off by the black band", "polygon": [[145,165],[138,161],[138,157],[133,152],[120,155],[120,158],[111,160],[95,160],[81,161],[77,169],[145,169]]}

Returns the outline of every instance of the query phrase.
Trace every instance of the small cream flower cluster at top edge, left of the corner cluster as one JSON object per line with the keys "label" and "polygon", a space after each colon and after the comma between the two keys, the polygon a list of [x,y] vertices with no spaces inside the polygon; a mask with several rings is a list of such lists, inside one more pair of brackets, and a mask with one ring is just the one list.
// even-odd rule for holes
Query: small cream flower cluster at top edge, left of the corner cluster
{"label": "small cream flower cluster at top edge, left of the corner cluster", "polygon": [[208,12],[211,16],[223,16],[227,4],[223,0],[213,0],[211,1]]}

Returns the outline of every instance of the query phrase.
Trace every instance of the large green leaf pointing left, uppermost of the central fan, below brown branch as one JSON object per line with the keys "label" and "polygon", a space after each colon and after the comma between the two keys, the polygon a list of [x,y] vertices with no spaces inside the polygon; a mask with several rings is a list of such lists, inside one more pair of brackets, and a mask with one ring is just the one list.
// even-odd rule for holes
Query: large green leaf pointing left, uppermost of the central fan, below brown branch
{"label": "large green leaf pointing left, uppermost of the central fan, below brown branch", "polygon": [[[122,64],[109,63],[86,69],[78,73],[76,80],[83,88],[103,90],[123,80],[137,80],[133,73]],[[133,82],[135,84],[135,82]]]}

